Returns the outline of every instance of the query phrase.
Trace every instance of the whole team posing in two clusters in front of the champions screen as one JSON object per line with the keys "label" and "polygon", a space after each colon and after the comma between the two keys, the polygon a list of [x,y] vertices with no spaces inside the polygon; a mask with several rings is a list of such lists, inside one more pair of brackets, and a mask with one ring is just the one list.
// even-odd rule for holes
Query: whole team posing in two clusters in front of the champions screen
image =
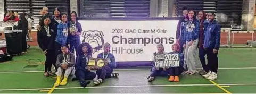
{"label": "whole team posing in two clusters in front of the champions screen", "polygon": [[[90,84],[86,80],[93,80],[93,84],[99,85],[106,78],[121,76],[113,72],[117,67],[117,58],[110,53],[111,41],[104,42],[101,47],[104,51],[96,57],[93,57],[92,45],[81,42],[83,29],[76,12],[68,15],[55,8],[53,15],[49,15],[48,8],[44,7],[41,14],[37,42],[46,56],[44,76],[57,76],[54,86],[65,86],[70,76],[72,81],[78,80],[81,87]],[[220,25],[214,17],[214,13],[195,12],[183,7],[183,18],[178,22],[177,31],[172,31],[176,32],[176,42],[171,44],[171,48],[164,48],[165,44],[155,44],[157,51],[147,53],[152,54],[153,59],[150,73],[145,79],[152,82],[162,76],[167,77],[168,81],[179,82],[179,75],[184,72],[188,75],[199,73],[206,79],[216,80]],[[166,52],[164,49],[172,51]],[[52,65],[55,72],[51,69]]]}

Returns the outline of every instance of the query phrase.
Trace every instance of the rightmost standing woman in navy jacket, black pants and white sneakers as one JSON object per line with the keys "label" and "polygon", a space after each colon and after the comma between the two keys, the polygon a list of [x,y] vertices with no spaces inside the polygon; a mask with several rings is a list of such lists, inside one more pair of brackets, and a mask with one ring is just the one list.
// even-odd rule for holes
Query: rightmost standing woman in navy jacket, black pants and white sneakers
{"label": "rightmost standing woman in navy jacket, black pants and white sneakers", "polygon": [[204,32],[203,48],[207,53],[209,72],[203,76],[209,80],[216,80],[218,72],[218,50],[220,47],[220,24],[214,20],[214,13],[208,13],[207,16],[209,23]]}

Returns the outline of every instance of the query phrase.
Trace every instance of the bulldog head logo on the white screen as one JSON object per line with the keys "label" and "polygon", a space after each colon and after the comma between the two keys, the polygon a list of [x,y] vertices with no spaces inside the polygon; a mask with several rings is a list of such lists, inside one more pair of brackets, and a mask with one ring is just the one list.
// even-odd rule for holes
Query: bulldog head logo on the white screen
{"label": "bulldog head logo on the white screen", "polygon": [[104,44],[103,36],[104,35],[102,31],[97,31],[97,30],[84,31],[82,33],[82,37],[84,37],[84,40],[82,40],[82,42],[87,42],[88,44],[90,44],[93,48],[93,54],[94,54],[95,52],[98,52],[99,50],[102,49]]}

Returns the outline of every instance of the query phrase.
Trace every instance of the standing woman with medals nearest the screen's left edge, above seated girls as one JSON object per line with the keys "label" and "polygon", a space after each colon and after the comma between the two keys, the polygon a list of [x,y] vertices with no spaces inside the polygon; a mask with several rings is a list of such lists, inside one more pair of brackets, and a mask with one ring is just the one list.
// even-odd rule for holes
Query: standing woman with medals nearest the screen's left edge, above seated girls
{"label": "standing woman with medals nearest the screen's left edge, above seated girls", "polygon": [[76,50],[76,55],[78,55],[77,47],[80,45],[80,35],[82,32],[81,24],[77,21],[77,13],[75,11],[71,12],[71,21],[69,24],[69,44],[71,53]]}

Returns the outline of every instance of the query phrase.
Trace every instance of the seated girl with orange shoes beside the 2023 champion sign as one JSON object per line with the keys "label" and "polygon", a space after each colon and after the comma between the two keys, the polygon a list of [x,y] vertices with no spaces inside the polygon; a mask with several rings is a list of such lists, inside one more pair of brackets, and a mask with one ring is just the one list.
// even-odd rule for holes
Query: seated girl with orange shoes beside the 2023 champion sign
{"label": "seated girl with orange shoes beside the 2023 champion sign", "polygon": [[169,81],[179,82],[179,75],[184,71],[184,55],[180,52],[180,46],[178,44],[172,45],[172,51],[169,54],[179,55],[179,67],[170,68],[170,78]]}

